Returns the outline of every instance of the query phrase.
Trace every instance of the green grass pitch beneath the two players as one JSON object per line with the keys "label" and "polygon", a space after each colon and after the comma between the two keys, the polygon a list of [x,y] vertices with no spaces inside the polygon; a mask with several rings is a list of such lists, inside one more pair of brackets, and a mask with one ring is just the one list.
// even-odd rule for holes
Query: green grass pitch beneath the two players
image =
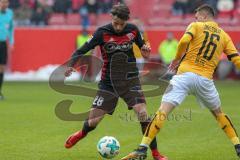
{"label": "green grass pitch beneath the two players", "polygon": [[[216,82],[222,108],[240,133],[240,82]],[[64,148],[66,138],[81,129],[82,122],[67,122],[54,113],[56,104],[72,99],[71,111],[86,111],[92,98],[63,95],[48,83],[7,82],[6,100],[0,101],[0,160],[100,160],[96,144],[110,135],[120,144],[120,159],[141,140],[140,125],[132,111],[120,101],[113,116],[106,116],[97,129],[74,148]],[[147,98],[151,114],[161,97]],[[127,114],[126,114],[127,113]],[[236,160],[233,145],[207,109],[189,96],[177,108],[157,136],[160,151],[170,160]],[[148,156],[148,160],[152,157]]]}

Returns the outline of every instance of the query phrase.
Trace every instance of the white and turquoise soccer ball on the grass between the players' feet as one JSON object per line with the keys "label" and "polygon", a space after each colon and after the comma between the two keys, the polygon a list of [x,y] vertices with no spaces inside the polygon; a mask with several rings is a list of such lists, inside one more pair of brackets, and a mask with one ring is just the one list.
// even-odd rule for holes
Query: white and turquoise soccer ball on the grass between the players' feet
{"label": "white and turquoise soccer ball on the grass between the players' feet", "polygon": [[105,136],[98,141],[97,150],[103,158],[111,159],[118,155],[120,144],[111,136]]}

